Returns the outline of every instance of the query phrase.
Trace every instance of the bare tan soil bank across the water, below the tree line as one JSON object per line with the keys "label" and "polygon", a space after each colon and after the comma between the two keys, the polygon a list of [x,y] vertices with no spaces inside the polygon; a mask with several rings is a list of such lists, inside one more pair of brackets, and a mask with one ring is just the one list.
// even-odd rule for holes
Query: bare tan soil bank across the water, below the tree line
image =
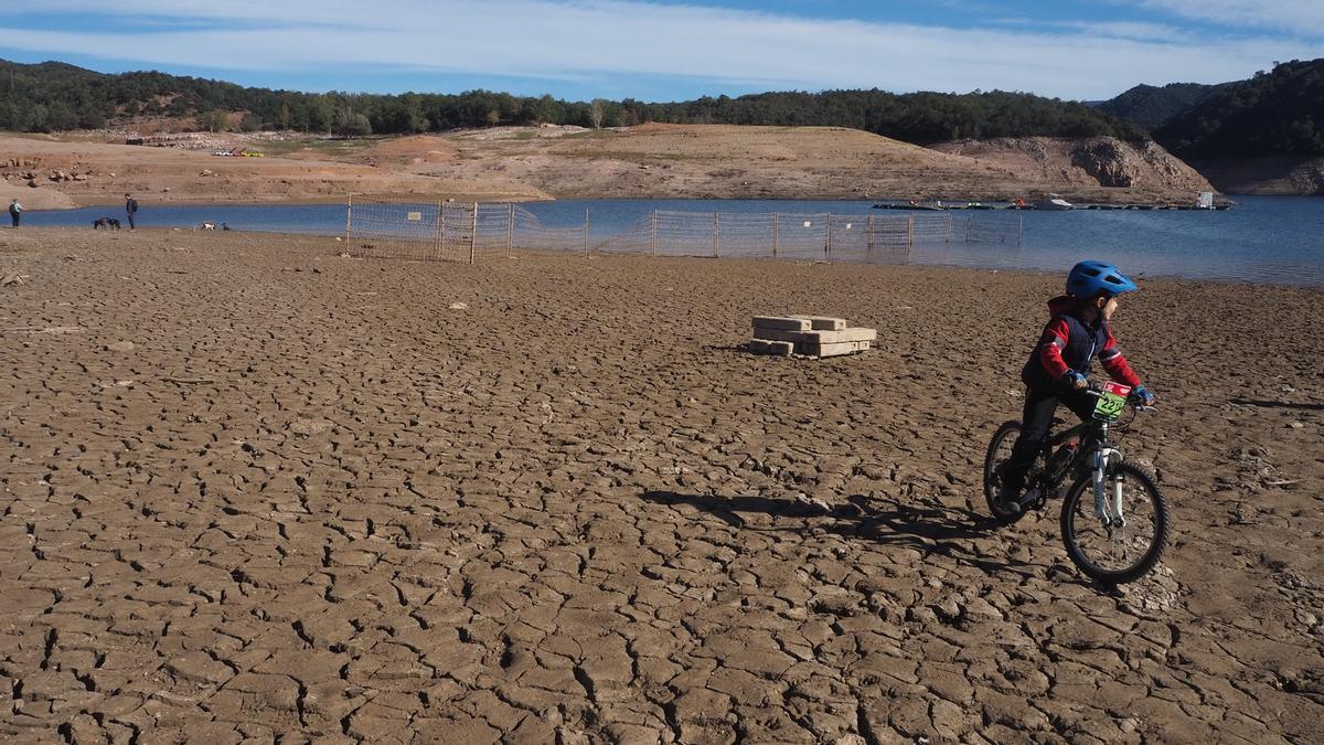
{"label": "bare tan soil bank across the water, below the tree line", "polygon": [[[457,199],[780,198],[1192,201],[1207,183],[1161,152],[1102,141],[1025,141],[959,154],[839,127],[645,125],[498,127],[396,139],[290,142],[226,135],[266,158],[34,137],[0,138],[0,198],[30,207],[262,201],[409,194]],[[120,141],[122,142],[122,141]],[[1016,141],[1021,142],[1021,141]],[[1155,146],[1156,147],[1156,146]],[[30,178],[29,178],[30,176]],[[36,184],[36,188],[28,184]]]}

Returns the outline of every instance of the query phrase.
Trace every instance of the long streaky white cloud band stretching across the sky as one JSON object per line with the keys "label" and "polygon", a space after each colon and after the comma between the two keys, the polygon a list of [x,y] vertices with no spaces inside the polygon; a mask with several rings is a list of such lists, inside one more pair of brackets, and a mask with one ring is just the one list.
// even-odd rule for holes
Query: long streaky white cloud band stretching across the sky
{"label": "long streaky white cloud band stretching across the sky", "polygon": [[[40,12],[148,24],[119,33],[0,27],[0,48],[217,70],[352,65],[547,80],[673,76],[749,89],[1004,89],[1084,99],[1137,82],[1237,80],[1275,58],[1309,56],[1303,44],[1272,38],[1173,41],[1140,24],[955,29],[618,0],[117,0],[107,8],[44,0]],[[168,30],[155,25],[163,19],[184,23]]]}

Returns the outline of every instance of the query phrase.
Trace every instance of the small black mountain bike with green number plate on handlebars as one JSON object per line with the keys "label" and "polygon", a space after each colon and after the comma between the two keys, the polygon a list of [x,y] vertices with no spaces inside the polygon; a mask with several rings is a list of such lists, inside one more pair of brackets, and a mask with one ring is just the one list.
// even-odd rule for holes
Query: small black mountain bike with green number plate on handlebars
{"label": "small black mountain bike with green number plate on handlebars", "polygon": [[[1050,496],[1063,498],[1062,541],[1071,562],[1103,583],[1135,582],[1158,563],[1168,546],[1168,497],[1149,469],[1124,457],[1110,436],[1128,431],[1139,412],[1153,407],[1128,399],[1131,388],[1117,383],[1091,384],[1086,392],[1096,399],[1094,418],[1050,433],[1026,475],[1027,489],[1037,489],[1038,497],[1021,509],[998,498],[1002,467],[1021,433],[1019,422],[998,427],[989,443],[984,497],[1002,525],[1042,508]],[[1117,424],[1128,403],[1131,419]],[[1068,477],[1074,481],[1064,487]]]}

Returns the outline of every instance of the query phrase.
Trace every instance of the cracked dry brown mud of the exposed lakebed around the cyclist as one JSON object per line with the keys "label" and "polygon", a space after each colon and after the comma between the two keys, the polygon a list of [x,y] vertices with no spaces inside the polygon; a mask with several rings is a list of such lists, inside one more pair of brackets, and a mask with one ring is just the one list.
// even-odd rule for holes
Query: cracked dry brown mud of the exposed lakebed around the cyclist
{"label": "cracked dry brown mud of the exposed lakebed around the cyclist", "polygon": [[[1055,276],[0,244],[28,277],[0,288],[7,740],[1324,730],[1319,290],[1152,280],[1123,305],[1162,402],[1125,445],[1176,528],[1111,594],[1055,505],[984,520]],[[793,312],[878,350],[736,347]]]}

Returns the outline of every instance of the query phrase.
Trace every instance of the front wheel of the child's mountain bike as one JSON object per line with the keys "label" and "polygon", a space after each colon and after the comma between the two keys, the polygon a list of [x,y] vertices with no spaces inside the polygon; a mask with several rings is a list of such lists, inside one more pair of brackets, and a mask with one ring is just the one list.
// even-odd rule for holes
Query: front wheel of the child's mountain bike
{"label": "front wheel of the child's mountain bike", "polygon": [[1071,485],[1062,502],[1062,541],[1071,561],[1094,579],[1135,582],[1158,563],[1168,546],[1168,497],[1131,460],[1108,468],[1104,494],[1096,509],[1092,475]]}

